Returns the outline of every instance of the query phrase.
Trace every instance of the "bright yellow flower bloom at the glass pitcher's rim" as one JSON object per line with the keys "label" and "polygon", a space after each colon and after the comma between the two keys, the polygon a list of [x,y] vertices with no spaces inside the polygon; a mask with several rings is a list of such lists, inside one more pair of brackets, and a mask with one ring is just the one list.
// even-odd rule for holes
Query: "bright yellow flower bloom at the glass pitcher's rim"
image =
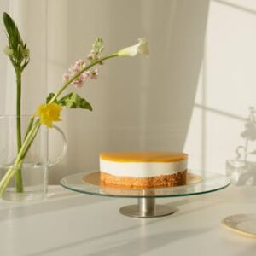
{"label": "bright yellow flower bloom at the glass pitcher's rim", "polygon": [[61,121],[61,106],[55,102],[49,104],[41,104],[38,107],[36,115],[40,118],[40,123],[48,127],[53,127],[53,122]]}

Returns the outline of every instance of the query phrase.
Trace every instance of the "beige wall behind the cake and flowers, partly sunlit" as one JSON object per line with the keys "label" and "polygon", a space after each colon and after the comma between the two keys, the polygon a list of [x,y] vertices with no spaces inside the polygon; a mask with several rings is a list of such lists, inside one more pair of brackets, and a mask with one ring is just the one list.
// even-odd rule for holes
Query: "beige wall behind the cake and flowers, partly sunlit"
{"label": "beige wall behind the cake and flowers, partly sunlit", "polygon": [[[20,21],[32,48],[25,78],[27,113],[58,88],[62,73],[87,55],[97,36],[104,38],[106,53],[134,44],[140,36],[150,42],[149,59],[109,61],[100,67],[98,81],[79,90],[94,112],[63,113],[60,125],[69,147],[65,159],[51,169],[51,182],[67,173],[96,170],[98,154],[109,150],[183,150],[191,168],[224,173],[225,161],[245,143],[240,134],[256,95],[254,1],[1,4],[1,10],[10,9]],[[2,48],[2,39],[0,43]],[[12,84],[5,62],[1,56],[1,82]],[[0,96],[1,113],[11,109],[11,95],[7,90]],[[54,157],[60,142],[51,133]],[[254,150],[253,143],[248,150]]]}

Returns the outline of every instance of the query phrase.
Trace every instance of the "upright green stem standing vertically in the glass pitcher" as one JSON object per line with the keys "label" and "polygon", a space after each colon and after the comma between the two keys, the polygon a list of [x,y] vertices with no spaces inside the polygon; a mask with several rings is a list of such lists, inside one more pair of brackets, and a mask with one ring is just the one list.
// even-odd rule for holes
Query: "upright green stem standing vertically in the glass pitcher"
{"label": "upright green stem standing vertically in the glass pitcher", "polygon": [[[17,85],[17,98],[16,98],[16,132],[17,132],[17,150],[18,154],[21,148],[21,71],[16,68],[16,85]],[[18,169],[15,174],[16,192],[23,192],[22,173],[21,169]]]}

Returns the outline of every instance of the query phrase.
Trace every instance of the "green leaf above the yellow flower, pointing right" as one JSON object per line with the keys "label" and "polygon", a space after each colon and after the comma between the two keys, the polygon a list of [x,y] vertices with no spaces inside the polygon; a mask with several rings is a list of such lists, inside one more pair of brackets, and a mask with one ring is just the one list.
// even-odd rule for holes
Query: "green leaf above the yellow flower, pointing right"
{"label": "green leaf above the yellow flower, pointing right", "polygon": [[87,102],[84,98],[80,97],[75,92],[71,92],[61,98],[58,101],[61,106],[65,106],[67,108],[84,108],[92,111],[92,107],[89,102]]}

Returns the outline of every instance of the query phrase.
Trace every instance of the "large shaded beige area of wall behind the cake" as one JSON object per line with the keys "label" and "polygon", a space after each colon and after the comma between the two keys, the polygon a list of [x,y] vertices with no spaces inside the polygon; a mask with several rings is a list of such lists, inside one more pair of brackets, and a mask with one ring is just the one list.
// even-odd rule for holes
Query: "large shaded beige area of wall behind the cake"
{"label": "large shaded beige area of wall behind the cake", "polygon": [[[151,53],[148,60],[109,61],[97,83],[79,92],[94,112],[67,113],[66,170],[56,166],[52,181],[95,170],[102,151],[183,150],[203,57],[208,2],[67,2],[67,61],[84,55],[84,44],[99,35],[108,43],[106,53],[141,36],[148,38]],[[90,12],[84,15],[84,9]],[[51,35],[49,40],[55,40],[57,33]]]}

